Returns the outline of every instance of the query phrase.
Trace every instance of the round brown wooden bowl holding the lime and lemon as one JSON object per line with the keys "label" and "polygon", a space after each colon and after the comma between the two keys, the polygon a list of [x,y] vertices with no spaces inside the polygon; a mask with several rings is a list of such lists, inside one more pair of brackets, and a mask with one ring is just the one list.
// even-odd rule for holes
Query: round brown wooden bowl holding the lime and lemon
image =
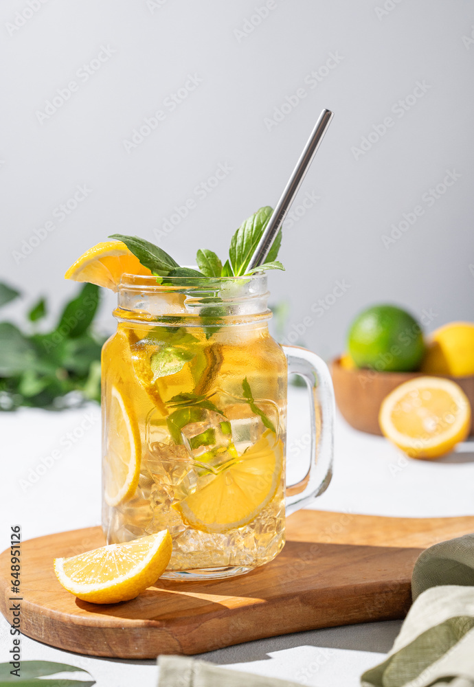
{"label": "round brown wooden bowl holding the lime and lemon", "polygon": [[[340,358],[335,358],[330,367],[337,407],[343,418],[355,429],[379,436],[379,409],[385,396],[403,382],[423,376],[421,372],[348,370],[342,367]],[[474,436],[474,375],[447,379],[459,384],[469,398],[473,409],[470,436]]]}

